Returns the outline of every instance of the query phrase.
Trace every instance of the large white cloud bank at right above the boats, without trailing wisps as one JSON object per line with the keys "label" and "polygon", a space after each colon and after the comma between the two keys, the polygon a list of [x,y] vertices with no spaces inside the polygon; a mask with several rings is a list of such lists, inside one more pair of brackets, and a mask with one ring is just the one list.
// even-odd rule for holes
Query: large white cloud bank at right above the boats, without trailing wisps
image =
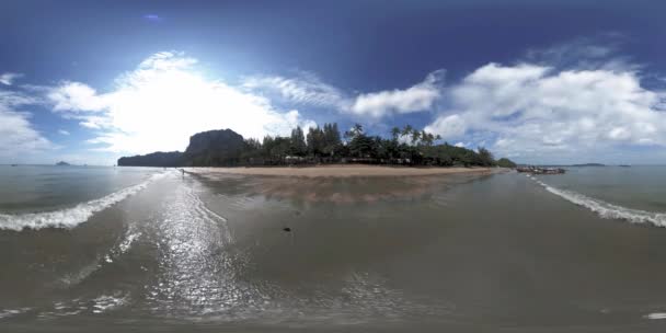
{"label": "large white cloud bank at right above the boats, without trailing wisps", "polygon": [[447,139],[484,133],[497,153],[532,158],[666,146],[664,96],[633,71],[489,64],[448,90],[450,106],[425,129]]}

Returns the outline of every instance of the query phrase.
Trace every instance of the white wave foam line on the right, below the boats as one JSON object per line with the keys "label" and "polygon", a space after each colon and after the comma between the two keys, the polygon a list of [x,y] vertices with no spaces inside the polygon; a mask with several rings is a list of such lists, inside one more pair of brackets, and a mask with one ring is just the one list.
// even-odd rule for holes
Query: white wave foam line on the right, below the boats
{"label": "white wave foam line on the right, below the boats", "polygon": [[543,186],[548,192],[555,194],[575,205],[583,206],[601,218],[621,219],[632,223],[652,223],[657,227],[666,227],[666,214],[654,213],[640,209],[627,208],[613,204],[606,203],[600,199],[592,198],[586,195],[552,187],[541,181],[533,179],[539,185]]}

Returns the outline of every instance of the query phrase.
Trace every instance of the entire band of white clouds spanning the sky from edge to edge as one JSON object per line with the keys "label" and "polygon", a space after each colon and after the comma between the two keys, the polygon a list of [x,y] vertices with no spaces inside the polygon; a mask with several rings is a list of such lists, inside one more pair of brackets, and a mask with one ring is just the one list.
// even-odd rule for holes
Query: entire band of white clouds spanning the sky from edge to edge
{"label": "entire band of white clouds spanning the sky from edge to edge", "polygon": [[642,84],[641,67],[625,58],[604,62],[610,48],[585,48],[594,61],[579,62],[566,58],[567,49],[543,51],[551,60],[490,62],[446,85],[445,71],[435,70],[412,85],[374,92],[351,92],[303,71],[230,84],[208,78],[197,59],[180,53],[148,57],[103,92],[76,81],[10,85],[20,76],[5,73],[0,149],[11,156],[57,147],[35,129],[28,106],[76,120],[93,135],[89,149],[123,154],[183,150],[191,135],[209,129],[254,138],[288,135],[297,125],[315,126],[317,113],[310,119],[297,111],[313,106],[361,123],[422,113],[430,119],[424,129],[449,142],[486,146],[523,161],[617,156],[635,147],[666,158],[666,92]]}

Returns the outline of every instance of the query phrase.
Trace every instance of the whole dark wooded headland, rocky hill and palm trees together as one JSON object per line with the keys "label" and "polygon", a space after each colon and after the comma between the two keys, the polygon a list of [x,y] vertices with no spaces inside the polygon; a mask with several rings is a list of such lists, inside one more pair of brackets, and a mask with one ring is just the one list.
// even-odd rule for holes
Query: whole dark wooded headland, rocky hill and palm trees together
{"label": "whole dark wooded headland, rocky hill and palm trees together", "polygon": [[190,138],[185,152],[153,152],[120,158],[118,165],[135,166],[237,166],[318,163],[367,163],[434,166],[515,168],[508,159],[495,161],[485,148],[476,151],[451,146],[439,136],[407,125],[391,129],[389,138],[368,136],[356,124],[341,135],[337,124],[296,127],[289,137],[266,136],[262,141],[244,139],[231,129],[209,130]]}

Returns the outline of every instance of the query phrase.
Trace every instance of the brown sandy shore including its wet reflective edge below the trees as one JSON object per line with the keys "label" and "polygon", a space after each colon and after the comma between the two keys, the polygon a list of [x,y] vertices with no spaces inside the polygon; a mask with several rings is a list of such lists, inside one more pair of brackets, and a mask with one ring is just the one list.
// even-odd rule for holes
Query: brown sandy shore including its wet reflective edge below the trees
{"label": "brown sandy shore including its wet reflective edge below the trees", "polygon": [[[242,193],[307,203],[376,203],[415,199],[469,180],[498,173],[498,168],[405,168],[325,165],[305,168],[190,168],[211,185],[233,184]],[[383,186],[368,186],[369,181]],[[354,191],[351,191],[354,188]]]}

